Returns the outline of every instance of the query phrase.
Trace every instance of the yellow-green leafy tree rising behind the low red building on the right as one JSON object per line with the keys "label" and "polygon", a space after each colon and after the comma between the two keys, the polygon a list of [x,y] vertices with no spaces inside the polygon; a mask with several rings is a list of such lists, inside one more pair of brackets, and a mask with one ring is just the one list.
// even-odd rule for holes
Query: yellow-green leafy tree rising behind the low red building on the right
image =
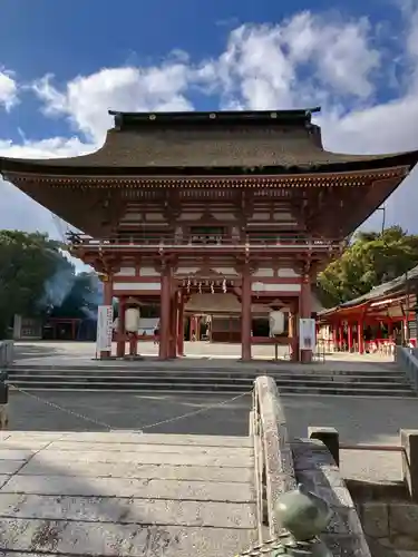
{"label": "yellow-green leafy tree rising behind the low red building on the right", "polygon": [[353,300],[418,265],[418,236],[400,226],[360,232],[342,256],[318,276],[325,307]]}

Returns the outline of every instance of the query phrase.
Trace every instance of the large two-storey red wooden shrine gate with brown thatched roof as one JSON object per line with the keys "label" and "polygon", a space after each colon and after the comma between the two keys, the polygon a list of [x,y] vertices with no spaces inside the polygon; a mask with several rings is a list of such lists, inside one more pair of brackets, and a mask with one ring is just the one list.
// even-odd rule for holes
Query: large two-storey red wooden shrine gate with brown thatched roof
{"label": "large two-storey red wooden shrine gate with brown thatched roof", "polygon": [[[236,297],[243,360],[252,304],[285,307],[298,359],[298,317],[311,316],[318,270],[418,159],[328,153],[311,121],[318,110],[110,113],[98,152],[2,158],[1,173],[82,231],[72,253],[103,274],[106,304],[161,305],[161,359],[183,354],[193,294]],[[123,355],[124,319],[118,326]]]}

